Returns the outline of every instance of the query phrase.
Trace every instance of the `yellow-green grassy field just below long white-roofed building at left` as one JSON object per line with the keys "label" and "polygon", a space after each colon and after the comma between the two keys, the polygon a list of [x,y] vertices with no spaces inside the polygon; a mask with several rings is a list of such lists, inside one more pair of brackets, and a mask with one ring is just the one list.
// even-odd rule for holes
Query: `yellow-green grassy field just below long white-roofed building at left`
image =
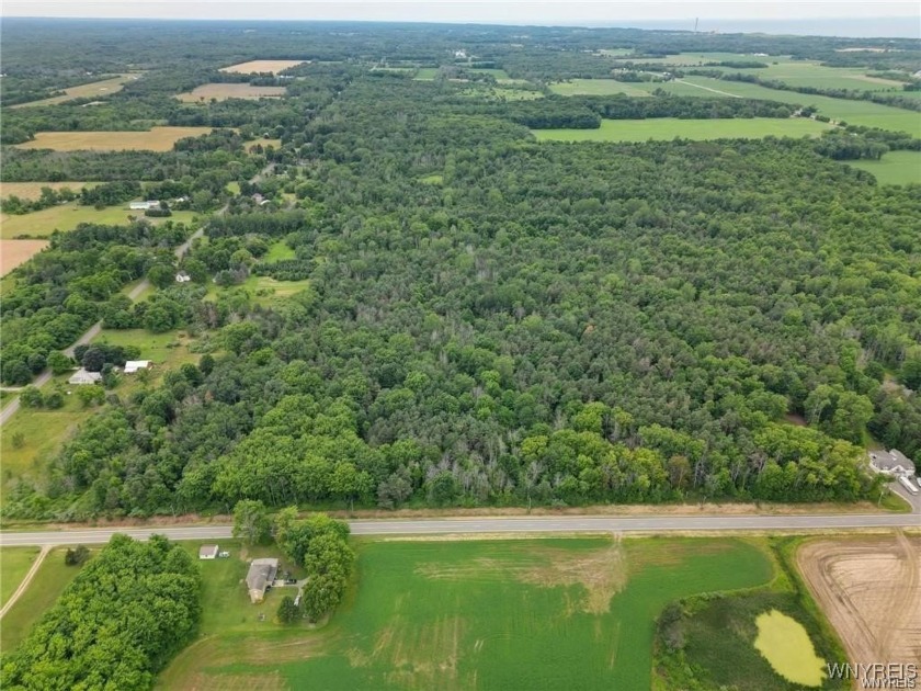
{"label": "yellow-green grassy field just below long white-roofed building at left", "polygon": [[[194,215],[194,212],[173,212],[172,216],[147,218],[147,220],[155,225],[167,220],[189,224]],[[43,238],[55,230],[73,230],[81,223],[125,225],[128,223],[128,216],[145,218],[144,212],[130,211],[123,204],[98,209],[94,206],[68,202],[31,214],[19,216],[3,214],[0,216],[0,239],[10,240],[20,236]]]}

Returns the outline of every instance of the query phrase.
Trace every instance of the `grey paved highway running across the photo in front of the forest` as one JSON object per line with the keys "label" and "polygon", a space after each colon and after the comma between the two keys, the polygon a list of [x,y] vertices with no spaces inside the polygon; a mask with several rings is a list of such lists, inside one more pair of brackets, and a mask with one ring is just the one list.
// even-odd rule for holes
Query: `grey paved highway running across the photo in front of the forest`
{"label": "grey paved highway running across the photo in front of the forest", "polygon": [[[670,517],[521,517],[521,518],[445,518],[420,520],[350,521],[354,535],[497,535],[509,533],[668,533],[694,531],[815,531],[873,528],[921,528],[921,516],[850,514],[850,516],[670,516]],[[75,529],[41,532],[0,532],[0,546],[75,545],[109,542],[113,533],[137,540],[151,534],[171,540],[226,540],[229,525],[194,525],[187,528]]]}

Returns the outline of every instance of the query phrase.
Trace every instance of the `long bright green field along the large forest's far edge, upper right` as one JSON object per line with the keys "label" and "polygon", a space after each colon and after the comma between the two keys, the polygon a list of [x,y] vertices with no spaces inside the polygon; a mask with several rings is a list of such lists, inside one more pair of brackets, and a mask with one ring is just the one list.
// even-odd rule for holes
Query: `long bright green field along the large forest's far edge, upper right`
{"label": "long bright green field along the large forest's far edge, upper right", "polygon": [[598,129],[532,129],[538,141],[646,141],[647,139],[719,139],[818,136],[828,125],[805,118],[781,120],[605,120]]}

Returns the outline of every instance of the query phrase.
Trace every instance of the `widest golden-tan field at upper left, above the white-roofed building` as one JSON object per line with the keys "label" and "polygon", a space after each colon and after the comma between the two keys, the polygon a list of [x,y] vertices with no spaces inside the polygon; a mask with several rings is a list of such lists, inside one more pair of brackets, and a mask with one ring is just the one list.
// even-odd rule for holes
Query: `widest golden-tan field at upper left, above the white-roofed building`
{"label": "widest golden-tan field at upper left, above the white-roofed building", "polygon": [[198,137],[213,127],[152,127],[141,132],[37,132],[21,149],[55,151],[169,151],[184,137]]}

